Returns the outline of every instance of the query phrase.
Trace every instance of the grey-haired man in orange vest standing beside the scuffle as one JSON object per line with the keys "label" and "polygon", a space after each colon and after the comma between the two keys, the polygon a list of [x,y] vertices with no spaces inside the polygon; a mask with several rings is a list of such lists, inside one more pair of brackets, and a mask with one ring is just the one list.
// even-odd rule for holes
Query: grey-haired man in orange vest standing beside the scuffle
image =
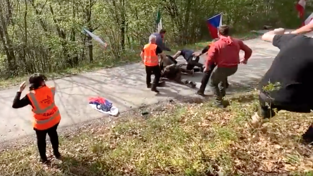
{"label": "grey-haired man in orange vest standing beside the scuffle", "polygon": [[[161,58],[165,58],[165,54],[161,47],[156,45],[156,36],[150,35],[149,44],[146,44],[141,51],[140,57],[142,59],[143,64],[146,67],[146,84],[147,88],[151,88],[151,91],[159,93],[156,89],[159,84],[161,78],[161,68],[159,66],[158,54],[161,55]],[[154,80],[151,85],[151,75],[154,75]]]}

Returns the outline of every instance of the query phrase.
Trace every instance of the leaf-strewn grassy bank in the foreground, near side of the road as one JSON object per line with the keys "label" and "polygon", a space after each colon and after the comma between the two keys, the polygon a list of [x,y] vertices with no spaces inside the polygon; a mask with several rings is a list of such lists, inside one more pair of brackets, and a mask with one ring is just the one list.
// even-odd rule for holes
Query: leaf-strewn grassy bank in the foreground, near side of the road
{"label": "leaf-strewn grassy bank in the foreground, near side of the road", "polygon": [[[35,146],[0,154],[0,175],[312,175],[309,147],[298,143],[312,117],[280,112],[262,129],[249,126],[255,92],[210,101],[176,101],[122,114],[110,126],[60,137],[63,160],[38,162]],[[128,120],[125,120],[128,119]],[[49,146],[49,145],[48,145]]]}

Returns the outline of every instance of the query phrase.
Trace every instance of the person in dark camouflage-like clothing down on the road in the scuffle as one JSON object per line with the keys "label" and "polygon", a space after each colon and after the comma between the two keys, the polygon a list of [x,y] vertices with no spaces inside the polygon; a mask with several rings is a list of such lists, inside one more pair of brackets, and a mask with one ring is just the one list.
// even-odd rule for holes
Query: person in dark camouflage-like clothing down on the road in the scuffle
{"label": "person in dark camouflage-like clothing down on the road in the scuffle", "polygon": [[195,88],[196,85],[192,81],[182,79],[183,72],[192,74],[192,70],[185,70],[181,68],[179,65],[177,65],[177,63],[174,63],[175,60],[173,60],[173,58],[171,58],[171,56],[169,55],[167,55],[167,58],[169,60],[172,60],[172,64],[164,67],[163,63],[160,62],[160,67],[163,68],[161,72],[161,77],[167,78],[169,80],[174,80],[179,84],[190,85],[192,88]]}

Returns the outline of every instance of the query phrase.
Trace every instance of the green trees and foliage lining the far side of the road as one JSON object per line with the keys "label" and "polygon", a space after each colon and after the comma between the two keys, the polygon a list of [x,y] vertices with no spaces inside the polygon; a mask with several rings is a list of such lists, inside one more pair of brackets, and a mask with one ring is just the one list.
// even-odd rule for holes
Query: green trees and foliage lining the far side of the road
{"label": "green trees and foliage lining the far side of the road", "polygon": [[[263,25],[295,27],[293,1],[285,0],[3,0],[0,3],[0,75],[58,72],[94,62],[133,60],[155,31],[156,11],[170,45],[209,39],[205,19],[223,12],[234,32]],[[92,30],[107,41],[82,34]]]}

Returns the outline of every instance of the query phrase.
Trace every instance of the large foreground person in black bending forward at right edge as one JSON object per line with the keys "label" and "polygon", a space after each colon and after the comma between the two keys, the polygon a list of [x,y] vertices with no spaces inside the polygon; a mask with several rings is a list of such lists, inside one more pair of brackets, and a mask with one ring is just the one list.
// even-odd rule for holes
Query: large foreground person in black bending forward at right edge
{"label": "large foreground person in black bending forward at right edge", "polygon": [[[313,39],[297,34],[284,34],[279,28],[262,36],[280,49],[271,67],[259,83],[258,113],[252,117],[258,126],[260,116],[275,116],[274,108],[292,112],[309,113],[313,109]],[[273,87],[274,89],[269,87]],[[302,135],[303,142],[313,142],[313,123]]]}

